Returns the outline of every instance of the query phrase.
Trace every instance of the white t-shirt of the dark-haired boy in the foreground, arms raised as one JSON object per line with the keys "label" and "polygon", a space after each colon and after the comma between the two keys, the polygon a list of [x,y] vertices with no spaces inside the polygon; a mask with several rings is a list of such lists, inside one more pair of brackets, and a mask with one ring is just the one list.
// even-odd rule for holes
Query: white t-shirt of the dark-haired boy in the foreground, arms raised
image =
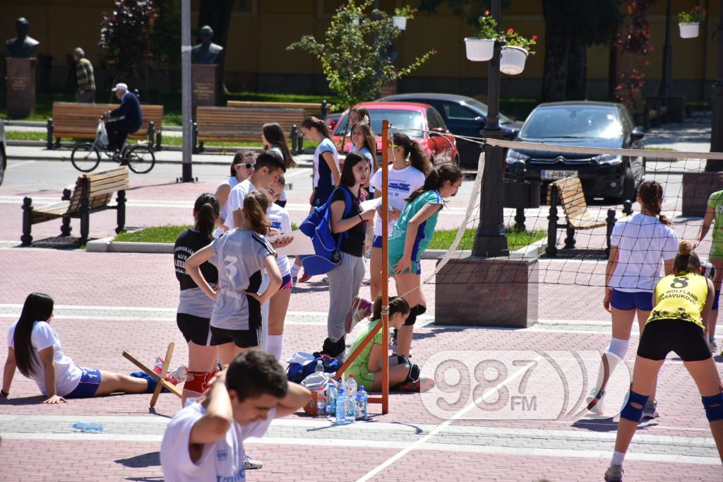
{"label": "white t-shirt of the dark-haired boy in the foreground, arms raised", "polygon": [[234,420],[226,436],[213,444],[205,444],[201,458],[194,463],[189,452],[189,439],[194,424],[205,413],[205,407],[192,399],[168,423],[161,442],[161,466],[166,482],[246,481],[244,440],[263,436],[276,409],[269,410],[266,420],[247,426]]}

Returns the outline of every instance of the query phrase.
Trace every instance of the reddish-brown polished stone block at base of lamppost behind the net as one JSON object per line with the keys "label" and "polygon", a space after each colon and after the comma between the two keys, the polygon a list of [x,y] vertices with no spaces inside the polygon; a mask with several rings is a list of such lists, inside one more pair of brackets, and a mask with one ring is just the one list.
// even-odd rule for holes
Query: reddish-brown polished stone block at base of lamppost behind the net
{"label": "reddish-brown polished stone block at base of lamppost behind the net", "polygon": [[537,322],[537,260],[452,259],[435,282],[435,324],[527,328]]}

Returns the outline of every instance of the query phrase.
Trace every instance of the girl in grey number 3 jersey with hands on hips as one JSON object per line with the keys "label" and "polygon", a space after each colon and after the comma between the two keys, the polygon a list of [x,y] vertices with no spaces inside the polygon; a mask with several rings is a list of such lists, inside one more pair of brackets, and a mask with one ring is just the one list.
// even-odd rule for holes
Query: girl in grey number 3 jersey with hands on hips
{"label": "girl in grey number 3 jersey with hands on hips", "polygon": [[[210,344],[227,366],[244,350],[258,347],[261,338],[261,305],[281,287],[276,252],[266,240],[270,222],[266,219],[269,198],[252,191],[244,198],[241,223],[210,245],[194,253],[184,268],[200,289],[215,303],[210,319]],[[200,269],[215,258],[218,284],[211,287]],[[264,292],[257,294],[261,270],[269,275]]]}

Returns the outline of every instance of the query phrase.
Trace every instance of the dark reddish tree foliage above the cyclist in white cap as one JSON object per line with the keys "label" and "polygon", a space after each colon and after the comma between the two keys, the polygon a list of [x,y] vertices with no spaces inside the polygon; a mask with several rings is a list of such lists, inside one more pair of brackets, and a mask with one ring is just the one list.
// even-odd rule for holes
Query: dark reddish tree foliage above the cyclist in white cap
{"label": "dark reddish tree foliage above the cyclist in white cap", "polygon": [[111,14],[103,12],[98,45],[106,51],[106,64],[114,83],[139,77],[150,56],[150,37],[157,14],[152,0],[118,0]]}

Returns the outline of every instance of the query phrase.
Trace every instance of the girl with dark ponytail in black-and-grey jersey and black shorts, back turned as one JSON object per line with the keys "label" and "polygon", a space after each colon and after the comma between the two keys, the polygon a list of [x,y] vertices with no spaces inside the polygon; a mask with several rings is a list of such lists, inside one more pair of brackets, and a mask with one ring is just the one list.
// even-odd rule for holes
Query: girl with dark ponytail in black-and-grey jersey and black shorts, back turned
{"label": "girl with dark ponytail in black-and-grey jersey and black shorts, back turned", "polygon": [[[200,397],[216,374],[216,348],[210,343],[213,300],[198,287],[184,269],[184,264],[193,253],[205,248],[213,240],[211,231],[219,215],[220,209],[215,195],[200,195],[193,206],[194,227],[179,234],[174,246],[176,278],[181,287],[176,325],[188,344],[188,373],[181,407],[185,405],[187,398]],[[200,271],[211,287],[218,284],[218,271],[209,261],[201,264]]]}

